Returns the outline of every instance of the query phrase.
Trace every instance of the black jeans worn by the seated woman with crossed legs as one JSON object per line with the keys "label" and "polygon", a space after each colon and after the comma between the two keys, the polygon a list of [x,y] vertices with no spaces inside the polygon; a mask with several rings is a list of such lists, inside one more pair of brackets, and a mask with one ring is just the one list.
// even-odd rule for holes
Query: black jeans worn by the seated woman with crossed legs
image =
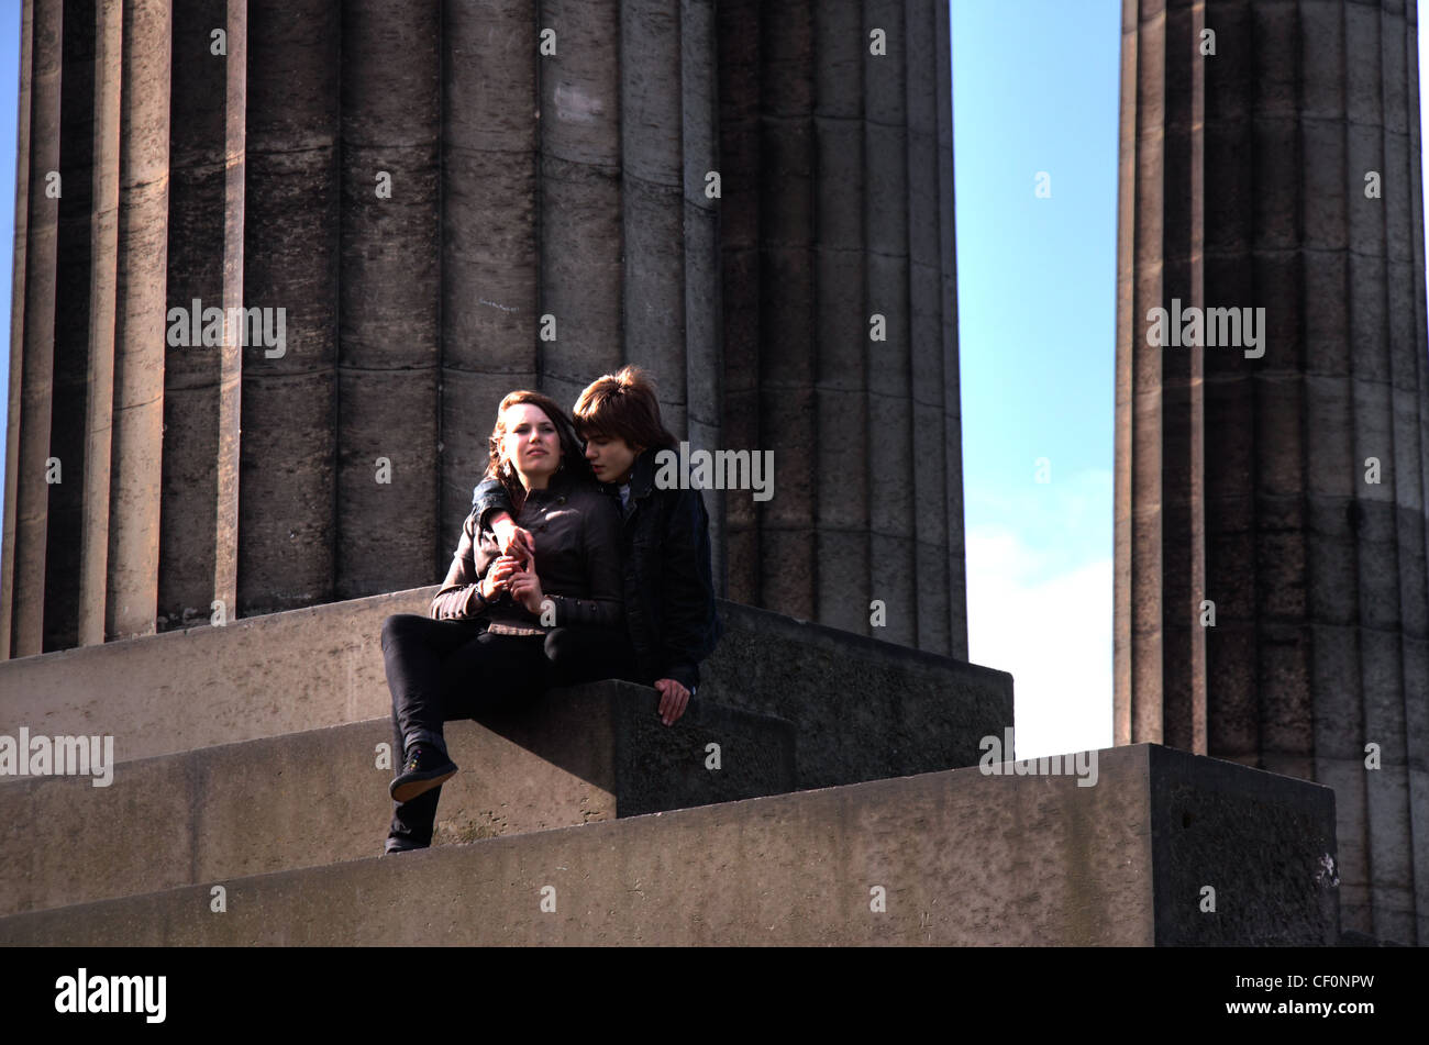
{"label": "black jeans worn by the seated woman with crossed legs", "polygon": [[[634,651],[624,630],[569,627],[546,635],[493,635],[470,620],[393,614],[382,624],[392,690],[393,758],[426,742],[446,751],[442,724],[522,704],[554,685],[630,678]],[[387,848],[432,844],[442,788],[394,802]]]}

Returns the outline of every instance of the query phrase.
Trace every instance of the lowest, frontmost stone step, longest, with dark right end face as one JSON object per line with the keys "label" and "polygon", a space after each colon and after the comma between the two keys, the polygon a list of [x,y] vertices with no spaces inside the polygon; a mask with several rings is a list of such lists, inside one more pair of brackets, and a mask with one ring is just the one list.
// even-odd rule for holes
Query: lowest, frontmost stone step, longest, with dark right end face
{"label": "lowest, frontmost stone step, longest, with dark right end face", "polygon": [[17,914],[0,945],[1336,941],[1329,788],[1093,754],[1090,785],[1005,764],[800,791]]}

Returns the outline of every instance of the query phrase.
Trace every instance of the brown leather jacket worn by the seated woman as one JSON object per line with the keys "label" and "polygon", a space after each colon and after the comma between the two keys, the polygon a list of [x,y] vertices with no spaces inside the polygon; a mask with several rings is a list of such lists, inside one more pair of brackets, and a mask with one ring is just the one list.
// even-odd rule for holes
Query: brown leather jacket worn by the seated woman
{"label": "brown leather jacket worn by the seated woman", "polygon": [[[544,597],[554,604],[554,625],[592,624],[624,627],[622,614],[620,510],[589,481],[557,473],[546,490],[526,497],[516,524],[536,534],[536,575]],[[483,620],[493,631],[540,635],[550,631],[540,615],[502,592],[482,604],[477,584],[500,557],[496,534],[477,528],[477,513],[462,524],[462,540],[452,557],[442,590],[432,598],[429,615],[439,620]]]}

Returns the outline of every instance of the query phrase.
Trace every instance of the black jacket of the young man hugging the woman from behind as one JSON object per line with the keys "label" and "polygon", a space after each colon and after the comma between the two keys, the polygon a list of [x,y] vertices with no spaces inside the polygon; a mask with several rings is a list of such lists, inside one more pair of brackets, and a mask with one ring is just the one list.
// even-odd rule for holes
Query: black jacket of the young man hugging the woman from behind
{"label": "black jacket of the young man hugging the woman from behind", "polygon": [[[654,485],[657,448],[642,453],[630,475],[630,507],[622,527],[624,618],[642,678],[673,678],[687,690],[700,681],[700,661],[725,631],[714,611],[710,575],[709,514],[699,490]],[[620,507],[619,487],[602,488]],[[482,525],[487,513],[510,511],[502,484],[484,480],[472,493],[472,511]],[[540,535],[536,535],[540,547]]]}

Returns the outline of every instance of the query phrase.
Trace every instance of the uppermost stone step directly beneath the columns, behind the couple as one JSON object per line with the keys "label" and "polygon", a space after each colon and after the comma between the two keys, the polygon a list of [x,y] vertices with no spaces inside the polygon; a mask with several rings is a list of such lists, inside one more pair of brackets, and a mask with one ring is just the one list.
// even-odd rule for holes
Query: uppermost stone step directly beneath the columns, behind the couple
{"label": "uppermost stone step directly beneath the columns, behind the couple", "polygon": [[[0,662],[0,735],[111,735],[120,761],[346,725],[392,711],[389,614],[436,587]],[[700,695],[799,735],[797,785],[975,765],[1012,721],[1012,675],[719,602]]]}

